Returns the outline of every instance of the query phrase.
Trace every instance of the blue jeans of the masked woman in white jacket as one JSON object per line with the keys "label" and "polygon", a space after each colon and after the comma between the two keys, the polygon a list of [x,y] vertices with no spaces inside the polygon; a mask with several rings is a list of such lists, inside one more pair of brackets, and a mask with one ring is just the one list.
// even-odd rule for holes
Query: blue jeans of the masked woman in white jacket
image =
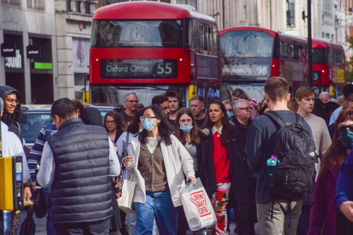
{"label": "blue jeans of the masked woman in white jacket", "polygon": [[156,218],[159,234],[174,235],[178,229],[178,208],[173,206],[169,190],[146,192],[146,204],[134,203],[136,235],[152,235]]}

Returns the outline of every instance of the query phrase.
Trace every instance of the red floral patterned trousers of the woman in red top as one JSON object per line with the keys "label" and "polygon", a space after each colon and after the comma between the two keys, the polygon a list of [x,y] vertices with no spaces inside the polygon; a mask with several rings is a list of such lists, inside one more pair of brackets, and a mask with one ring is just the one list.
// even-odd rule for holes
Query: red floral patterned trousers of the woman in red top
{"label": "red floral patterned trousers of the woman in red top", "polygon": [[216,234],[226,234],[227,231],[227,204],[229,199],[229,183],[217,183],[217,191],[210,200],[215,208],[217,223]]}

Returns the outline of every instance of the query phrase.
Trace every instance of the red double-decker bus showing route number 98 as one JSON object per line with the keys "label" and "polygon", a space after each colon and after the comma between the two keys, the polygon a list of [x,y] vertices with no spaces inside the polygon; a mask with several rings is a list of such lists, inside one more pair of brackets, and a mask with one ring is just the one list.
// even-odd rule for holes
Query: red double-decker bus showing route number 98
{"label": "red double-decker bus showing route number 98", "polygon": [[259,27],[235,27],[220,31],[220,46],[222,82],[228,88],[241,88],[261,100],[263,83],[271,76],[285,77],[292,93],[307,85],[306,38]]}

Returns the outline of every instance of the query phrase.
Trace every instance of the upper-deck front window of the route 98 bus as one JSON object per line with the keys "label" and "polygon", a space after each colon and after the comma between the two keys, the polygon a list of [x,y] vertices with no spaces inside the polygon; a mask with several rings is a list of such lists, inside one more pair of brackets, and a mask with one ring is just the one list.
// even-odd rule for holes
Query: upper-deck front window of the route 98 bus
{"label": "upper-deck front window of the route 98 bus", "polygon": [[220,37],[223,56],[272,57],[274,37],[263,31],[234,30]]}

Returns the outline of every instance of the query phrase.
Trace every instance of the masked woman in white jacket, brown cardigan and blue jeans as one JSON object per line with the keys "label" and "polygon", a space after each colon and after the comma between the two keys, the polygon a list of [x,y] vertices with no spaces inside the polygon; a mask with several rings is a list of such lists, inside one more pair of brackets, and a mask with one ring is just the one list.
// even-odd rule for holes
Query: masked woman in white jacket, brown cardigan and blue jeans
{"label": "masked woman in white jacket, brown cardigan and blue jeans", "polygon": [[146,107],[140,121],[144,130],[131,140],[129,154],[123,159],[126,169],[136,176],[135,234],[152,234],[154,218],[160,234],[177,234],[177,207],[182,205],[184,174],[196,183],[192,158],[171,135],[169,122],[159,106]]}

